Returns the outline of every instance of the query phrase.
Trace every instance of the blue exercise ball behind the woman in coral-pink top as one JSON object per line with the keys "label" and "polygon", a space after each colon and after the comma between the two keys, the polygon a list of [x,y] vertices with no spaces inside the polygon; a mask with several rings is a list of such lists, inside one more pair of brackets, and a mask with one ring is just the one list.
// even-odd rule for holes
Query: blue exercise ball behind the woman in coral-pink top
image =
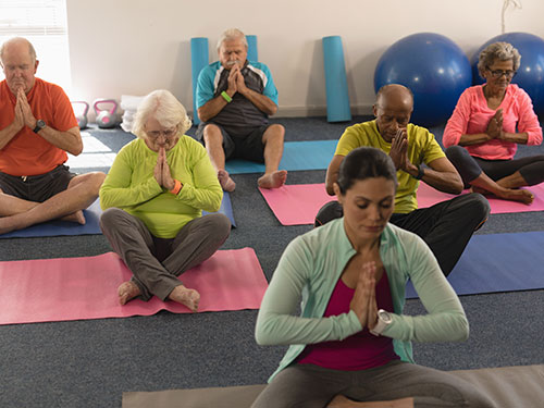
{"label": "blue exercise ball behind the woman in coral-pink top", "polygon": [[521,64],[511,82],[529,94],[536,114],[544,115],[544,40],[541,37],[528,33],[506,33],[490,39],[472,57],[473,84],[484,83],[478,72],[480,52],[497,41],[509,42],[518,49]]}

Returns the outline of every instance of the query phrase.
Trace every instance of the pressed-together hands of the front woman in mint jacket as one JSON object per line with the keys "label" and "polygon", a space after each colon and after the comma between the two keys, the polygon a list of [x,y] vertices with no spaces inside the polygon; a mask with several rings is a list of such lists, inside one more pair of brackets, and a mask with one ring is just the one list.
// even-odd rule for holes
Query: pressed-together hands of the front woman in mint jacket
{"label": "pressed-together hands of the front woman in mint jacket", "polygon": [[375,301],[375,262],[364,262],[357,280],[355,294],[349,309],[357,314],[362,327],[374,329],[378,321],[378,305]]}

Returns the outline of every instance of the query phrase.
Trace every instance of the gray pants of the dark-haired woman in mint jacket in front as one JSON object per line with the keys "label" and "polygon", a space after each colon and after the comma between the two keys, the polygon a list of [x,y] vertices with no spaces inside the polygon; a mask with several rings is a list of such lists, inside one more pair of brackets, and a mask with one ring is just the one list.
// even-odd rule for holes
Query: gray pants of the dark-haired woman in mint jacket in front
{"label": "gray pants of the dark-haired woman in mint jacket in front", "polygon": [[413,397],[418,408],[495,407],[475,386],[458,376],[393,360],[360,371],[292,364],[274,378],[251,408],[323,408],[337,394],[357,401]]}

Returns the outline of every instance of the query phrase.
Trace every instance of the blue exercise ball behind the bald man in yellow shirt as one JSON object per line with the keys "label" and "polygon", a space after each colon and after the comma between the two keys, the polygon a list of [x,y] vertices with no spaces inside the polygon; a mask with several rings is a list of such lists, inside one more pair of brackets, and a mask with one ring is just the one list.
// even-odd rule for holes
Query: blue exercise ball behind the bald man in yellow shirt
{"label": "blue exercise ball behind the bald man in yellow shirt", "polygon": [[422,126],[445,123],[461,92],[472,84],[470,63],[449,38],[420,33],[393,44],[374,71],[374,90],[401,84],[413,92],[411,122]]}

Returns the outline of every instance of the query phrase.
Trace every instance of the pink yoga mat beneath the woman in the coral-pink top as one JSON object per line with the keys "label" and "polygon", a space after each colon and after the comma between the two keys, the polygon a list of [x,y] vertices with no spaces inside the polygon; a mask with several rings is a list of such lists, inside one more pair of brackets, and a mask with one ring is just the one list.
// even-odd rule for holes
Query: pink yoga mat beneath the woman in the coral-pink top
{"label": "pink yoga mat beneath the woman in the coral-pink top", "polygon": [[[544,183],[537,186],[524,187],[534,195],[534,201],[528,206],[522,202],[502,200],[493,196],[485,196],[490,201],[491,213],[500,214],[506,212],[528,212],[544,210]],[[468,193],[468,190],[465,190]],[[456,197],[453,194],[441,193],[425,183],[420,183],[418,188],[418,206],[420,208],[431,207],[437,202]]]}

